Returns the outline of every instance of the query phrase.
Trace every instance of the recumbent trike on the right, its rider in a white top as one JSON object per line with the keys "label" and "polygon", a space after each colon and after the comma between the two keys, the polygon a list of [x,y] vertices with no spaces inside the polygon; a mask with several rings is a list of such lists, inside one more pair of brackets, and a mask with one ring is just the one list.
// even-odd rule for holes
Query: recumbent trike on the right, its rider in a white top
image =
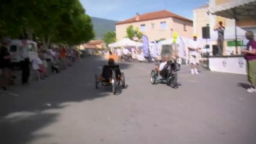
{"label": "recumbent trike on the right, its rider in a white top", "polygon": [[[159,64],[159,63],[158,63]],[[156,69],[151,71],[150,74],[150,81],[152,85],[166,82],[167,86],[171,86],[171,88],[178,88],[177,81],[178,81],[178,73],[177,71],[180,70],[180,64],[176,61],[168,61],[167,64],[164,66],[164,69],[158,74]],[[161,78],[158,76],[160,75]]]}

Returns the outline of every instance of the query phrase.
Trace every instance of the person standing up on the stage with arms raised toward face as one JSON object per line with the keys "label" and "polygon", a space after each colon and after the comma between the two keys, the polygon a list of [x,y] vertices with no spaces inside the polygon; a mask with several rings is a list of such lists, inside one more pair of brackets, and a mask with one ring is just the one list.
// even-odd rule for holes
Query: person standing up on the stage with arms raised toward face
{"label": "person standing up on the stage with arms raised toward face", "polygon": [[218,32],[218,54],[217,55],[223,55],[223,43],[224,43],[224,31],[225,27],[222,26],[222,21],[219,21],[219,24],[215,25],[214,31]]}

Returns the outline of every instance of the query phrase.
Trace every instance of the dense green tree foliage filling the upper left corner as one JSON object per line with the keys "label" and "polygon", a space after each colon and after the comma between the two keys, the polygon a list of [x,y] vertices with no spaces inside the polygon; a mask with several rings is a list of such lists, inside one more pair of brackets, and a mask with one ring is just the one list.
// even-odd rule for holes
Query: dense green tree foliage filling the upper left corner
{"label": "dense green tree foliage filling the upper left corner", "polygon": [[93,24],[79,0],[0,0],[0,36],[77,45],[93,39]]}

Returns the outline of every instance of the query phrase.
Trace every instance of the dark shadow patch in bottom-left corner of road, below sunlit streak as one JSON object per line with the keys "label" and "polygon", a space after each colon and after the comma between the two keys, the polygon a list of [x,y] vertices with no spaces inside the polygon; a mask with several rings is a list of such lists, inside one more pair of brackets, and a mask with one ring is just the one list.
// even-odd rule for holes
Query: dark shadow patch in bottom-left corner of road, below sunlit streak
{"label": "dark shadow patch in bottom-left corner of road, below sunlit streak", "polygon": [[6,118],[0,121],[0,144],[25,144],[33,139],[50,137],[51,134],[33,132],[57,121],[57,116],[57,113],[36,113]]}

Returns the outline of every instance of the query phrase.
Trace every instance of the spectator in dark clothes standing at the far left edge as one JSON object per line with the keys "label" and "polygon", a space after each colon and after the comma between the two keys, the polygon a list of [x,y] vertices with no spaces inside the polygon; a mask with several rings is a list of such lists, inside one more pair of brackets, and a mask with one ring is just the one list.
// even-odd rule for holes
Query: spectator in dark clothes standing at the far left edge
{"label": "spectator in dark clothes standing at the far left edge", "polygon": [[11,40],[8,38],[2,39],[2,46],[0,47],[0,71],[1,71],[1,88],[7,90],[8,85],[8,69],[10,68],[12,55],[8,51],[8,46]]}

